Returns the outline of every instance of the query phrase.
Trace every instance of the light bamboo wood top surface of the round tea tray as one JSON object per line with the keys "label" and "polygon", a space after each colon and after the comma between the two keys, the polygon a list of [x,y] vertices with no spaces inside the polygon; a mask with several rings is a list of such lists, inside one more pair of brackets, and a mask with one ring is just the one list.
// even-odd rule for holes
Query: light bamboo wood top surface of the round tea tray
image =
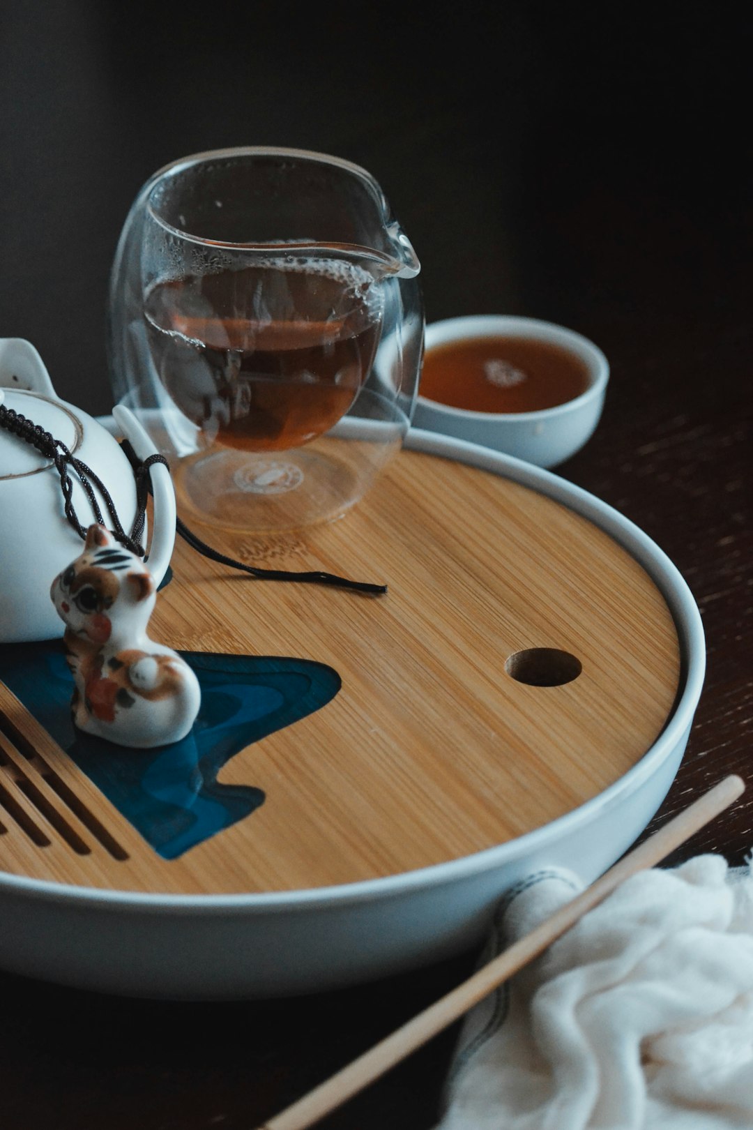
{"label": "light bamboo wood top surface of the round tea tray", "polygon": [[[339,522],[282,538],[198,532],[252,564],[388,584],[370,597],[255,581],[177,540],[154,638],[315,660],[340,675],[340,692],[221,770],[219,783],[264,791],[259,809],[166,860],[0,687],[0,714],[42,758],[32,768],[61,782],[50,803],[76,799],[70,823],[89,847],[0,834],[0,869],[189,894],[402,873],[579,807],[632,768],[672,713],[680,645],[651,577],[594,523],[498,475],[404,451]],[[526,649],[568,652],[581,673],[518,681],[506,664]],[[82,831],[84,816],[120,851]]]}

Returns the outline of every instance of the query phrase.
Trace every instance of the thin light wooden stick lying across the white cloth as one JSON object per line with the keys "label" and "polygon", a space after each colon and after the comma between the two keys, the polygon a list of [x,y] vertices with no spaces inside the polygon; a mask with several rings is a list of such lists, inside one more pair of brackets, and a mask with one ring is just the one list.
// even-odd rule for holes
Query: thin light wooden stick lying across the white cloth
{"label": "thin light wooden stick lying across the white cloth", "polygon": [[330,1079],[307,1095],[275,1114],[257,1130],[306,1130],[348,1098],[415,1051],[437,1033],[448,1027],[464,1012],[482,1000],[492,989],[502,984],[524,965],[537,957],[557,938],[570,929],[579,918],[602,902],[629,876],[655,867],[675,847],[680,847],[695,832],[718,816],[744,792],[744,781],[727,776],[683,812],[675,816],[653,836],[619,860],[595,883],[571,902],[566,903],[551,918],[542,922],[478,973],[441,997],[429,1008],[397,1028],[392,1035],[375,1044]]}

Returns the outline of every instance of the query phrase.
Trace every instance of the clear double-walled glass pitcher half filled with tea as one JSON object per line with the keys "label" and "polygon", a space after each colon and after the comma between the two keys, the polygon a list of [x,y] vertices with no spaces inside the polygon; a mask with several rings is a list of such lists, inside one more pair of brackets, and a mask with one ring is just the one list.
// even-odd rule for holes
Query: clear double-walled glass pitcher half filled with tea
{"label": "clear double-walled glass pitcher half filled with tea", "polygon": [[111,380],[186,521],[294,530],[361,498],[413,416],[419,270],[377,182],[340,158],[234,148],[149,179],[113,263]]}

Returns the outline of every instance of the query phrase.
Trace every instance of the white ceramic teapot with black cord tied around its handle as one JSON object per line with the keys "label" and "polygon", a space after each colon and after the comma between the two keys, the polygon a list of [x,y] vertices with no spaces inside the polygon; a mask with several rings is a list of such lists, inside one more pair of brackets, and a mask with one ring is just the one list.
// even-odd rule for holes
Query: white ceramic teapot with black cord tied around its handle
{"label": "white ceramic teapot with black cord tied around its handle", "polygon": [[[117,441],[91,416],[56,394],[37,350],[23,338],[0,339],[0,402],[38,424],[102,480],[124,530],[137,515],[137,486]],[[113,410],[119,432],[139,459],[157,454],[126,408]],[[150,468],[154,530],[148,565],[156,584],[163,580],[175,544],[175,493],[163,463]],[[71,502],[86,529],[96,521],[77,475],[71,471]],[[94,486],[102,514],[106,501]],[[146,541],[147,529],[142,533]],[[0,644],[52,640],[64,625],[50,599],[56,574],[81,551],[82,541],[65,516],[60,473],[54,463],[19,436],[0,428]]]}

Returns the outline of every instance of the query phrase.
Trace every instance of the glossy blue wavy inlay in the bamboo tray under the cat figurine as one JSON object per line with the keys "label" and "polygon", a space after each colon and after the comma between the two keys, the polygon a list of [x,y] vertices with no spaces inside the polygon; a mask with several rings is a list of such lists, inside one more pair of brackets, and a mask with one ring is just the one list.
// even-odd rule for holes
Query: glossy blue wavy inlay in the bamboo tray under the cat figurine
{"label": "glossy blue wavy inlay in the bamboo tray under the cat figurine", "polygon": [[125,749],[71,721],[73,681],[62,642],[0,647],[0,680],[165,859],[251,815],[264,802],[253,785],[224,785],[221,767],[247,746],[334,698],[340,676],[305,659],[180,653],[196,672],[201,709],[182,741]]}

